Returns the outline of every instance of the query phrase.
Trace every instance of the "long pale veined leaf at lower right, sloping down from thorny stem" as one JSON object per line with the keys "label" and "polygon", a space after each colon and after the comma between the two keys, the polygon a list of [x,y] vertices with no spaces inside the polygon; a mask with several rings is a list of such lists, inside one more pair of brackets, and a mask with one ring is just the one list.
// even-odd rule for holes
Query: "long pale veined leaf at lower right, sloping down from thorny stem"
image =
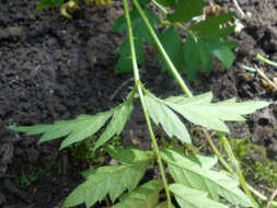
{"label": "long pale veined leaf at lower right, sloping down from thorny stem", "polygon": [[235,178],[204,169],[198,163],[172,150],[163,151],[162,159],[168,163],[170,173],[176,183],[206,192],[217,201],[221,196],[233,205],[251,207],[250,199],[239,188]]}

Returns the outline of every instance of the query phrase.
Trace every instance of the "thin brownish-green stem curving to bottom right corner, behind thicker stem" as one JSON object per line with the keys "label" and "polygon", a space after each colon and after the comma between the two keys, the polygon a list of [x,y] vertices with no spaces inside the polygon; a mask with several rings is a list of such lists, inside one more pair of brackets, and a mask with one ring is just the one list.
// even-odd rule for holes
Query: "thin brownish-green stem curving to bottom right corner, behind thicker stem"
{"label": "thin brownish-green stem curving to bottom right corner, behind thicker stem", "polygon": [[[220,163],[224,166],[224,169],[232,174],[234,177],[239,177],[238,174],[232,170],[232,167],[228,164],[228,162],[226,162],[226,160],[223,159],[223,157],[221,155],[221,153],[219,152],[217,146],[213,143],[212,139],[210,138],[208,131],[204,128],[197,127],[196,129],[199,129],[204,132],[205,137],[207,138],[212,151],[216,153],[216,155],[218,157]],[[255,188],[253,188],[250,184],[247,184],[249,189],[256,195],[258,198],[261,198],[262,200],[268,200],[268,198],[261,194],[259,192],[257,192]],[[272,205],[277,206],[277,201],[273,201]]]}

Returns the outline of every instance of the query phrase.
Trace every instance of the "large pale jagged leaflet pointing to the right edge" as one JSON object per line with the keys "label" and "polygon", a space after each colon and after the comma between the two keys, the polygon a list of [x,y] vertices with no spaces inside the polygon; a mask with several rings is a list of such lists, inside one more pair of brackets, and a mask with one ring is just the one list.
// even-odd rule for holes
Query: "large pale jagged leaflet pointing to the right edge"
{"label": "large pale jagged leaflet pointing to the right edge", "polygon": [[[170,106],[184,118],[206,127],[208,129],[229,132],[223,122],[244,120],[242,115],[252,114],[257,109],[268,106],[268,102],[249,101],[235,103],[234,99],[210,103],[211,92],[199,95],[199,97],[177,97],[177,103],[165,100],[165,105]],[[203,101],[201,101],[203,100]]]}

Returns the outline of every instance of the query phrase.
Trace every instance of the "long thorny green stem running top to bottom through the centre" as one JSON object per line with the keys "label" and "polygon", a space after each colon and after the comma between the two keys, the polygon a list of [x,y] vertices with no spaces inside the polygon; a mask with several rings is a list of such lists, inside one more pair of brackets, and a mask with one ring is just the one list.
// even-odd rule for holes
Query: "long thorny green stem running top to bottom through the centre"
{"label": "long thorny green stem running top to bottom through the centre", "polygon": [[148,114],[148,111],[147,111],[147,107],[146,107],[145,96],[143,96],[142,89],[141,89],[141,82],[140,82],[140,78],[139,78],[139,70],[138,70],[138,65],[137,65],[134,36],[132,36],[132,30],[131,30],[131,22],[130,22],[130,14],[129,14],[127,0],[123,0],[123,4],[124,4],[126,22],[127,22],[127,26],[128,26],[135,84],[136,84],[136,89],[137,89],[138,94],[139,94],[140,103],[141,103],[143,114],[145,114],[145,117],[146,117],[147,127],[148,127],[150,138],[151,138],[151,141],[152,141],[152,145],[153,145],[153,149],[154,149],[154,152],[155,152],[155,155],[157,155],[157,162],[158,162],[159,169],[161,171],[161,176],[162,176],[162,181],[163,181],[163,185],[164,185],[164,189],[165,189],[165,194],[166,194],[166,198],[168,198],[168,207],[171,208],[170,189],[169,189],[164,167],[163,167],[163,164],[162,164],[161,153],[160,153],[160,150],[159,150],[155,137],[154,137],[154,132],[153,132],[153,129],[152,129],[150,117],[149,117],[149,114]]}

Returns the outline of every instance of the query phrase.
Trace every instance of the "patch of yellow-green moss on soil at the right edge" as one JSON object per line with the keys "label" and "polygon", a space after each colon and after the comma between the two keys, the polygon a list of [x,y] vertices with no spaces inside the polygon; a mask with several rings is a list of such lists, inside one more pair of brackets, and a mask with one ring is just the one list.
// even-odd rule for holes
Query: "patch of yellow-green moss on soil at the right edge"
{"label": "patch of yellow-green moss on soil at the right edge", "polygon": [[249,138],[230,139],[230,142],[249,181],[263,182],[270,188],[277,186],[277,162],[266,157],[265,147],[253,143]]}

